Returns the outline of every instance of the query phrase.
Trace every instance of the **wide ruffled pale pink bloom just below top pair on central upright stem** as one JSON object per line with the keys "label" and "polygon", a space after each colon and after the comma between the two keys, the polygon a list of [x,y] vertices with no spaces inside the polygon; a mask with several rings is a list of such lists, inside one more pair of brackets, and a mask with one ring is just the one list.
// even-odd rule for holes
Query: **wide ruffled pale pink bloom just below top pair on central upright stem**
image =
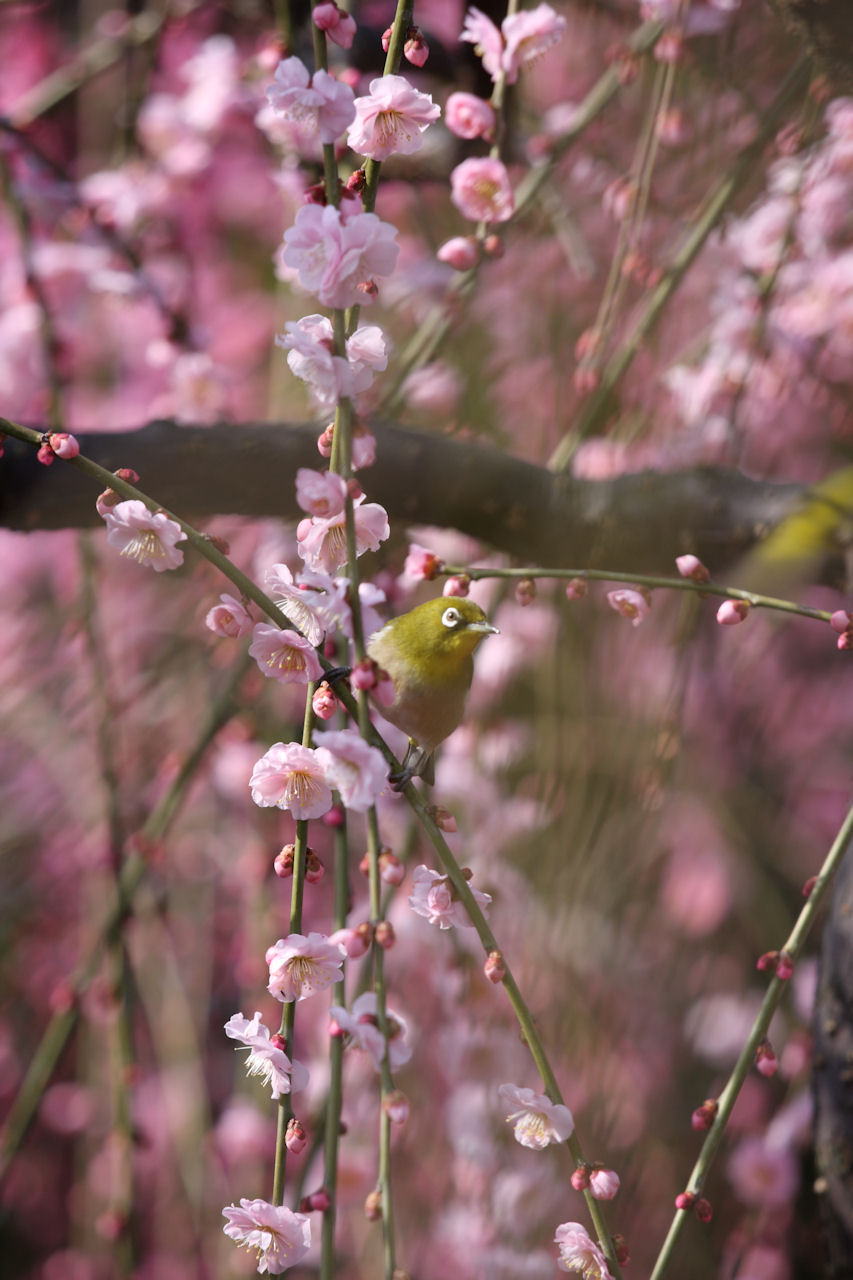
{"label": "wide ruffled pale pink bloom just below top pair on central upright stem", "polygon": [[351,307],[371,301],[360,285],[393,271],[396,236],[397,228],[375,214],[345,219],[333,205],[302,205],[284,232],[283,259],[324,306]]}

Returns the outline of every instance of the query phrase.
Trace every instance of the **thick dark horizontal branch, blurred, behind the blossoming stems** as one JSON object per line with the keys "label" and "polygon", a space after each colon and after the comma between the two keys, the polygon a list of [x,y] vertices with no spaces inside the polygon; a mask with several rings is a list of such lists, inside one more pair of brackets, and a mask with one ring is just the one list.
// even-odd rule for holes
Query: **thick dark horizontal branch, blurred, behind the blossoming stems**
{"label": "thick dark horizontal branch, blurred, behind the blossoming stems", "polygon": [[[694,552],[712,570],[754,547],[795,509],[799,485],[697,467],[576,480],[442,435],[374,424],[375,465],[361,474],[369,498],[397,525],[457,529],[523,559],[555,566],[671,568]],[[134,467],[142,486],[188,520],[214,515],[296,518],[297,467],[323,465],[316,426],[179,426],[79,434],[83,453],[109,470]],[[6,440],[0,461],[0,526],[81,529],[100,524],[91,481]]]}

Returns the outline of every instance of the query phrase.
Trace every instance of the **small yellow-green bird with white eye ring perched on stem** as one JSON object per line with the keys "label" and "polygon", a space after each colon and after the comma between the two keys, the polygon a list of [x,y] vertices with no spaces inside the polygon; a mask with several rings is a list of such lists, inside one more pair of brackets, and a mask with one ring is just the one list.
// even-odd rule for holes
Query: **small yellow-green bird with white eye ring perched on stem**
{"label": "small yellow-green bird with white eye ring perched on stem", "polygon": [[388,672],[394,700],[382,714],[410,739],[405,765],[425,772],[439,742],[465,712],[474,650],[496,634],[479,604],[439,596],[393,618],[370,637],[368,654]]}

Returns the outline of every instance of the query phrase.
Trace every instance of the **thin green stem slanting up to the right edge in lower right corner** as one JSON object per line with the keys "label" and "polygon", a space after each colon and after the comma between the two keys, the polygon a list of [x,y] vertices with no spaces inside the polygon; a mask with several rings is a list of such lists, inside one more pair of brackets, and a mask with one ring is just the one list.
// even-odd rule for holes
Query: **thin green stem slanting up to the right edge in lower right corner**
{"label": "thin green stem slanting up to the right edge in lower right corner", "polygon": [[[841,860],[850,846],[853,840],[853,805],[848,810],[847,818],[841,823],[838,836],[833,841],[833,847],[830,849],[824,865],[821,867],[820,874],[815,881],[815,886],[808,896],[803,910],[799,913],[797,923],[792,929],[788,941],[781,948],[786,952],[792,960],[797,960],[803,950],[803,943],[808,937],[817,913],[829,893],[830,886],[841,865]],[[707,1178],[708,1170],[713,1162],[715,1156],[720,1149],[722,1143],[722,1135],[731,1116],[733,1107],[740,1093],[743,1083],[747,1074],[756,1059],[756,1050],[761,1042],[766,1038],[767,1030],[770,1028],[771,1019],[779,1007],[781,997],[785,992],[788,982],[774,977],[767,987],[765,998],[758,1010],[756,1021],[753,1023],[752,1030],[747,1038],[747,1042],[740,1052],[726,1085],[717,1098],[717,1114],[715,1116],[713,1124],[708,1129],[708,1134],[702,1143],[702,1149],[699,1157],[693,1166],[693,1171],[688,1180],[685,1190],[698,1196],[704,1187],[704,1180]],[[667,1233],[663,1247],[658,1254],[657,1262],[654,1263],[654,1270],[652,1272],[652,1280],[661,1280],[670,1262],[672,1261],[672,1254],[675,1252],[675,1245],[678,1239],[684,1230],[684,1224],[688,1219],[688,1212],[685,1210],[676,1210],[675,1217]]]}

